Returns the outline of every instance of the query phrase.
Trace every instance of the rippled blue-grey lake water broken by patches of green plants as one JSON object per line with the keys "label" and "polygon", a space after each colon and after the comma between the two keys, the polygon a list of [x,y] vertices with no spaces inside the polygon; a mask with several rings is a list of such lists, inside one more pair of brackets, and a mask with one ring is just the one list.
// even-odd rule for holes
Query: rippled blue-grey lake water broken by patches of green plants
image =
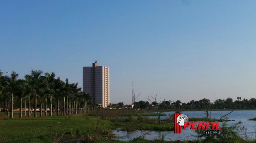
{"label": "rippled blue-grey lake water broken by patches of green plants", "polygon": [[[211,118],[220,119],[222,116],[228,114],[231,111],[211,111]],[[175,112],[164,112],[167,116],[161,116],[162,119],[168,118],[169,114],[174,114]],[[185,114],[189,118],[192,117],[206,117],[206,114],[204,111],[184,111],[182,114]],[[256,117],[256,110],[240,110],[240,111],[233,111],[232,113],[228,114],[228,119],[234,120],[234,121],[228,121],[228,125],[231,125],[232,123],[237,123],[238,121],[242,121],[242,125],[247,129],[246,135],[249,139],[255,139],[256,138],[256,121],[248,121],[248,118],[254,118]],[[157,117],[150,117],[150,118],[157,118]],[[221,122],[220,122],[221,125]],[[113,131],[116,135],[116,139],[119,139],[120,141],[129,141],[136,137],[139,137],[141,134],[144,134],[148,131]],[[182,129],[181,134],[174,134],[174,131],[149,131],[147,135],[145,135],[145,138],[148,140],[153,139],[160,139],[162,135],[165,135],[166,141],[176,141],[176,140],[194,140],[196,139],[192,135],[196,135],[192,129]],[[239,133],[240,136],[244,136],[244,133]]]}

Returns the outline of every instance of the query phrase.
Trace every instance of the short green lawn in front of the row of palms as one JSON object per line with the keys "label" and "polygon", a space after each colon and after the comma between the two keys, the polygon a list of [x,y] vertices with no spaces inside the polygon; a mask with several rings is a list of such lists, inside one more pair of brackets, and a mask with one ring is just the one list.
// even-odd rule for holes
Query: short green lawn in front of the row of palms
{"label": "short green lawn in front of the row of palms", "polygon": [[[15,113],[16,115],[17,113]],[[2,114],[1,114],[2,116]],[[69,119],[66,119],[69,117]],[[71,115],[37,118],[14,118],[0,120],[2,143],[51,143],[70,140],[93,133],[96,117]],[[100,120],[98,131],[114,128],[107,120]]]}

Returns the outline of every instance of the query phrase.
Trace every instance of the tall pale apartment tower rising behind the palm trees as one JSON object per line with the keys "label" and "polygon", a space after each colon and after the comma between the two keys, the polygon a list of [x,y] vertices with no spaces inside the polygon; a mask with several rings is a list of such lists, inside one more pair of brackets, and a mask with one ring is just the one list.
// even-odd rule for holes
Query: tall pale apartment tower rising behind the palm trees
{"label": "tall pale apartment tower rising behind the palm trees", "polygon": [[109,86],[109,67],[98,66],[97,61],[92,67],[83,67],[83,91],[103,108],[110,104]]}

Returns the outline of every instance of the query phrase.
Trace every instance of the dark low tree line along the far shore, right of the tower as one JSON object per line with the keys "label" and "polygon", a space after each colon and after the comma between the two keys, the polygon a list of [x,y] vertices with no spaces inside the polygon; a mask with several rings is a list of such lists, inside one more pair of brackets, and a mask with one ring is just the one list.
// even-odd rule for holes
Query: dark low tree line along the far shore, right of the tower
{"label": "dark low tree line along the far shore, right of the tower", "polygon": [[[191,100],[190,102],[181,102],[180,100],[177,101],[162,101],[161,103],[157,102],[150,102],[148,101],[138,101],[135,102],[137,108],[140,109],[153,109],[154,106],[159,106],[160,108],[163,107],[164,109],[171,109],[171,110],[204,110],[204,109],[254,109],[256,108],[256,98],[248,99],[241,99],[241,97],[237,97],[237,100],[233,102],[233,99],[228,97],[225,99],[217,99],[214,102],[210,102],[209,99],[201,99],[201,100]],[[124,105],[123,102],[119,102],[117,104],[112,104],[108,106],[109,108],[131,108],[131,105]]]}

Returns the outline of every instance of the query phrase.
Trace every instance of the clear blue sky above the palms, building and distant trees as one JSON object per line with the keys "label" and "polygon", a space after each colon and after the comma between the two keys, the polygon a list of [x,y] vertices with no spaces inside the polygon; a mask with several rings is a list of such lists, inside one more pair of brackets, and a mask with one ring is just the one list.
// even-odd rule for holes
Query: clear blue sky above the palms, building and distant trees
{"label": "clear blue sky above the palms, building and distant trees", "polygon": [[[110,67],[110,102],[255,98],[256,1],[0,1],[0,70]],[[215,96],[214,96],[215,94]],[[158,99],[159,100],[159,99]]]}

